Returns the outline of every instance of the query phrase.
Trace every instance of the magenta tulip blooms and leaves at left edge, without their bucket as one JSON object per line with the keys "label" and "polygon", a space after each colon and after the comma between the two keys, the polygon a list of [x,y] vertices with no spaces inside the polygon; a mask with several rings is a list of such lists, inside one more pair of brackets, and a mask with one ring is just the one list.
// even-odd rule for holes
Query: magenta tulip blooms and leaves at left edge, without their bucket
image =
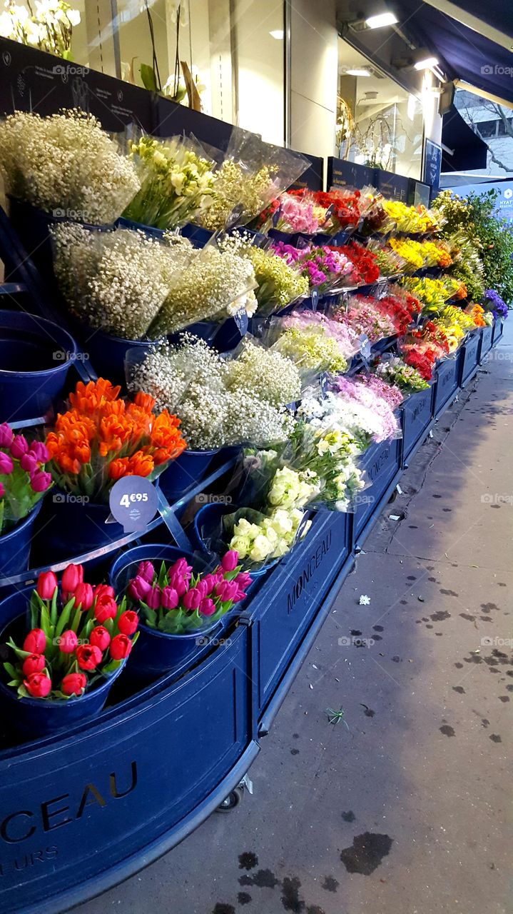
{"label": "magenta tulip blooms and leaves at left edge, without their bucket", "polygon": [[51,486],[48,460],[42,441],[26,441],[6,422],[0,424],[0,535],[23,520]]}

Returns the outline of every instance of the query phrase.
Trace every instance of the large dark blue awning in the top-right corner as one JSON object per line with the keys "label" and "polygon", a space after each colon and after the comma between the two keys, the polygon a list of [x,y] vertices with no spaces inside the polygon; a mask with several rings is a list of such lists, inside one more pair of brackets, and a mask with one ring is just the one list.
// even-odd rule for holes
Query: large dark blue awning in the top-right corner
{"label": "large dark blue awning in the top-right corner", "polygon": [[[497,0],[487,3],[471,0],[468,11],[498,29],[511,30],[508,4]],[[394,6],[401,14],[400,27],[414,37],[419,47],[429,48],[440,60],[440,66],[451,80],[464,80],[477,89],[497,95],[513,104],[513,54],[479,32],[446,16],[440,10],[418,0],[397,0]],[[510,9],[510,7],[509,7]],[[502,23],[502,25],[501,25]],[[496,25],[497,24],[497,25]]]}

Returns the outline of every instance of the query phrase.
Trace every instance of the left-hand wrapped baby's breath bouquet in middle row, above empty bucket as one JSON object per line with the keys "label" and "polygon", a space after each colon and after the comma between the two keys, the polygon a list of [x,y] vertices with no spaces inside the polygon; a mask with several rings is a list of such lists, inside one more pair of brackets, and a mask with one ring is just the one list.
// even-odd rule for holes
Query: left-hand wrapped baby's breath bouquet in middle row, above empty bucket
{"label": "left-hand wrapped baby's breath bouquet in middle row, above empty bucket", "polygon": [[149,238],[131,228],[89,230],[64,223],[50,229],[54,271],[69,309],[83,324],[127,340],[148,335],[194,248],[186,239]]}

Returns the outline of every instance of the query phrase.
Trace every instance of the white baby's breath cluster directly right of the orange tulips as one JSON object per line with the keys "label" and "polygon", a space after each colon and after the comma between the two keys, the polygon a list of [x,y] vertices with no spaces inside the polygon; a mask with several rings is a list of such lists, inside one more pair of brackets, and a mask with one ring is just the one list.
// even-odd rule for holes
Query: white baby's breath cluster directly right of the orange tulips
{"label": "white baby's breath cluster directly right of the orange tulips", "polygon": [[[150,353],[132,349],[127,356],[128,388],[134,393],[144,390],[155,399],[156,409],[176,415],[193,451],[287,441],[294,420],[282,400],[298,393],[298,372],[291,364],[285,372],[286,360],[277,364],[272,354],[258,350],[255,357],[249,345],[247,341],[240,366],[235,355],[220,356],[190,334]],[[240,356],[242,346],[237,352]]]}

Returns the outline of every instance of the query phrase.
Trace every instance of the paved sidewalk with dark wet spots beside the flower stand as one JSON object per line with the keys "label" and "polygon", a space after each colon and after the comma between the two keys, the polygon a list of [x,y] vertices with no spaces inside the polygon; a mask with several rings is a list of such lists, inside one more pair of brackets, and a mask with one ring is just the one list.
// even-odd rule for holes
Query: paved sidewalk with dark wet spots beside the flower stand
{"label": "paved sidewalk with dark wet spots beside the flower stand", "polygon": [[511,910],[511,343],[513,325],[367,540],[262,741],[255,795],[78,914]]}

